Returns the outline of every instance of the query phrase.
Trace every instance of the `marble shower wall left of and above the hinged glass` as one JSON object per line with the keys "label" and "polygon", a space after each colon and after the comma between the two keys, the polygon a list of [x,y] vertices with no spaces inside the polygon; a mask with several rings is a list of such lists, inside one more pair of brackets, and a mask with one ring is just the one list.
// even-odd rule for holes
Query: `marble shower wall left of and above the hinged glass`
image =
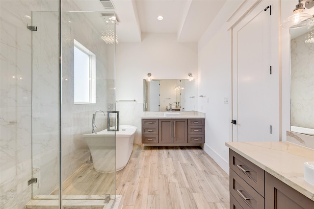
{"label": "marble shower wall left of and above the hinged glass", "polygon": [[56,0],[0,1],[0,209],[31,199],[32,12],[58,11]]}

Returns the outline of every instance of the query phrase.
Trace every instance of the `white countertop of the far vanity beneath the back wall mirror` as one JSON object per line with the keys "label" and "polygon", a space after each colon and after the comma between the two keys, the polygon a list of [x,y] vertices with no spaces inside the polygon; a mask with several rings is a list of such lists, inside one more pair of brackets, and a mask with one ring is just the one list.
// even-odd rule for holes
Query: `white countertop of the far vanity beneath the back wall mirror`
{"label": "white countertop of the far vanity beneath the back wall mirror", "polygon": [[164,112],[144,112],[142,118],[150,118],[150,119],[180,119],[180,118],[205,118],[205,113],[197,112],[197,111],[174,111],[173,113],[180,113],[180,116],[173,117],[165,117]]}

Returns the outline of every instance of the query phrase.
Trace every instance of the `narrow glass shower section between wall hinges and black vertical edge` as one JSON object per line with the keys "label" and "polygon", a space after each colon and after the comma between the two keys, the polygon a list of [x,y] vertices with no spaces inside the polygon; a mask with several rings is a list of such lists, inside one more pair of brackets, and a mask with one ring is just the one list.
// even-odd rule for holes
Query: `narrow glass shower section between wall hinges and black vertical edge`
{"label": "narrow glass shower section between wall hinges and black vertical edge", "polygon": [[59,187],[59,12],[32,12],[31,19],[32,198],[41,199]]}

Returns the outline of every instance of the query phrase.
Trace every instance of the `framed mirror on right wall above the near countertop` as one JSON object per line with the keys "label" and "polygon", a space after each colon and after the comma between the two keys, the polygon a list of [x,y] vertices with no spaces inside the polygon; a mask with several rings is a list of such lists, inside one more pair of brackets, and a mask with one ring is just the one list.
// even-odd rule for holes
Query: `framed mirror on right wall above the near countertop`
{"label": "framed mirror on right wall above the near countertop", "polygon": [[290,29],[291,131],[314,136],[314,30]]}

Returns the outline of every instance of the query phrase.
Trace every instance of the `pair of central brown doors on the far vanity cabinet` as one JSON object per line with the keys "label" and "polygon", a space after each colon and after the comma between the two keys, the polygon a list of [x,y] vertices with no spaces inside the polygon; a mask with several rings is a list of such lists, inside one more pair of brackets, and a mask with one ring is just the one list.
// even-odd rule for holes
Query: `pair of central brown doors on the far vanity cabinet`
{"label": "pair of central brown doors on the far vanity cabinet", "polygon": [[187,119],[159,119],[159,143],[187,143]]}

